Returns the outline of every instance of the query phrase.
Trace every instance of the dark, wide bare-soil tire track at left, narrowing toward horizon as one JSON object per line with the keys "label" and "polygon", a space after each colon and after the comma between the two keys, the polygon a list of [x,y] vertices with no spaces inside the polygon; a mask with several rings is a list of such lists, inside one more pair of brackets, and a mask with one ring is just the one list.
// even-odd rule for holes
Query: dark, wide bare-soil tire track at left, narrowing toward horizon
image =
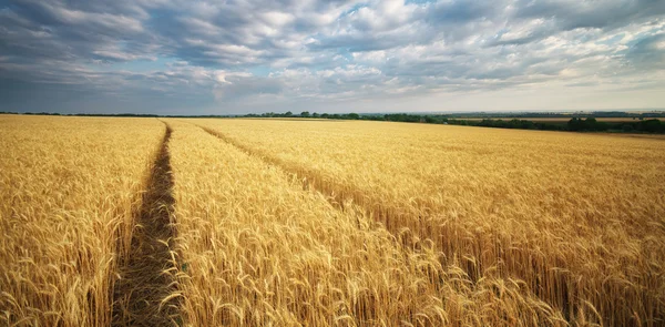
{"label": "dark, wide bare-soil tire track at left, narrowing toward horizon", "polygon": [[166,125],[157,156],[150,171],[141,208],[135,214],[131,248],[120,258],[119,280],[113,287],[111,326],[175,326],[181,323],[175,278],[175,228],[172,213],[173,177]]}

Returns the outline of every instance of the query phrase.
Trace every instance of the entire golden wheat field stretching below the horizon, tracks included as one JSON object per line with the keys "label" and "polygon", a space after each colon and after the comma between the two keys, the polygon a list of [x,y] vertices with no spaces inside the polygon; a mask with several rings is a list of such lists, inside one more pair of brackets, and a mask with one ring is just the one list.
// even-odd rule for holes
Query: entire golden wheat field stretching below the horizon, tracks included
{"label": "entire golden wheat field stretching below the horizon, tracks included", "polygon": [[0,325],[661,326],[626,136],[0,115]]}

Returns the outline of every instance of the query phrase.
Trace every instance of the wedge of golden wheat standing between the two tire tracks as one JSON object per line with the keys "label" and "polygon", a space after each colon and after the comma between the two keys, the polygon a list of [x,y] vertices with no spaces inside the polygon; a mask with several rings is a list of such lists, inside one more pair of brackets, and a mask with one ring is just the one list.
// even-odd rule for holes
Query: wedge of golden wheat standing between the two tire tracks
{"label": "wedge of golden wheat standing between the two tire tracks", "polygon": [[[565,325],[525,285],[472,282],[431,242],[400,237],[347,203],[186,123],[170,153],[190,326]],[[407,233],[408,234],[408,233]],[[411,241],[412,242],[412,241]]]}

